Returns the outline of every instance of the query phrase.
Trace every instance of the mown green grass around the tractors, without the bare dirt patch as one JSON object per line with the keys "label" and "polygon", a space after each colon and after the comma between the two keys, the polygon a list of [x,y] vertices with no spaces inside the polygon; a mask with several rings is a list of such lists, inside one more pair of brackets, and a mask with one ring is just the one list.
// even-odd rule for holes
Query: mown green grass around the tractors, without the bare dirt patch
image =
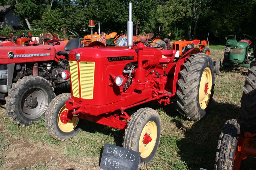
{"label": "mown green grass around the tractors, without the bare dirt patch", "polygon": [[[210,50],[213,60],[222,59],[224,46],[210,46]],[[246,72],[246,68],[230,68],[216,75],[215,93],[209,113],[197,122],[182,117],[177,111],[176,101],[168,106],[149,102],[129,109],[128,112],[132,113],[140,107],[151,107],[160,114],[162,133],[159,147],[154,159],[144,169],[213,169],[220,130],[228,119],[239,117]],[[13,140],[45,141],[52,147],[61,148],[62,153],[70,159],[100,159],[105,142],[118,146],[123,143],[124,130],[93,122],[85,122],[82,131],[72,140],[59,142],[48,135],[44,121],[28,127],[19,127],[6,115],[0,115],[0,120],[3,120],[4,129]],[[3,136],[0,136],[0,142],[8,145]],[[2,145],[0,152],[4,152]],[[0,167],[3,160],[0,157]],[[254,169],[255,162],[254,158],[247,159],[242,164],[242,169]],[[53,163],[31,165],[25,169],[51,169]]]}

